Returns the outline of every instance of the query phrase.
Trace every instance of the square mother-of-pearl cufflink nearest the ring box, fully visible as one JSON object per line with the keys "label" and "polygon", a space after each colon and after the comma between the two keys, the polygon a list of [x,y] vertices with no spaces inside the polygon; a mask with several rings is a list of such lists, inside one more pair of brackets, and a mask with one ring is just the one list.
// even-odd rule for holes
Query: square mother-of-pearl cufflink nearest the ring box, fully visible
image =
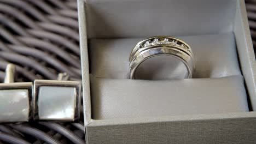
{"label": "square mother-of-pearl cufflink nearest the ring box, fully visible", "polygon": [[59,74],[58,80],[35,80],[33,90],[34,120],[75,121],[79,119],[80,81],[67,81],[66,74]]}

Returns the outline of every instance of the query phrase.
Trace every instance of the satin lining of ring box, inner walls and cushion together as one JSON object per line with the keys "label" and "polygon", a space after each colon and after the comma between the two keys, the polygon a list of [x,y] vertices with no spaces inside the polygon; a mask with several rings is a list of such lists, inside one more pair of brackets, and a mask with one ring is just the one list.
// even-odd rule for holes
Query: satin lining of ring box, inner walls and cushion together
{"label": "satin lining of ring box, inner walls and cushion together", "polygon": [[[245,86],[233,86],[232,83],[234,81],[243,83],[236,51],[236,40],[232,32],[233,23],[231,23],[231,19],[234,19],[235,14],[231,13],[231,11],[235,9],[234,2],[223,2],[222,7],[227,7],[227,10],[221,9],[219,5],[210,2],[211,8],[207,12],[208,19],[207,17],[202,17],[206,14],[193,10],[193,13],[189,15],[193,17],[193,20],[187,23],[183,21],[188,19],[188,15],[185,15],[188,11],[186,11],[187,8],[181,2],[163,1],[162,4],[155,4],[154,1],[138,1],[138,3],[124,1],[118,3],[115,1],[89,0],[86,3],[90,74],[92,77],[96,77],[95,79],[90,79],[91,83],[96,83],[91,85],[92,118],[143,117],[149,116],[148,111],[151,111],[150,115],[152,117],[191,114],[195,113],[192,108],[194,105],[201,106],[201,109],[197,109],[196,112],[199,114],[248,111],[248,106],[245,103],[247,101]],[[199,3],[199,1],[193,2],[191,5],[195,3]],[[202,5],[206,3],[200,2]],[[132,8],[123,8],[120,11],[117,9],[124,7],[125,4],[132,5]],[[154,5],[154,9],[149,9],[150,5]],[[177,11],[174,13],[172,9],[168,9],[170,6],[167,5],[180,7],[182,9],[180,11],[181,16],[177,15]],[[160,8],[162,10],[159,10]],[[223,13],[221,19],[219,17],[220,13]],[[138,16],[133,16],[135,14]],[[214,20],[218,20],[218,22],[214,22]],[[148,27],[148,29],[144,27]],[[177,31],[177,29],[179,30]],[[191,79],[189,80],[191,84],[187,84],[187,81],[182,80],[167,80],[173,83],[168,89],[153,85],[150,81],[143,81],[144,83],[149,83],[147,87],[135,87],[134,85],[139,83],[138,80],[127,80],[129,55],[138,41],[154,35],[173,36],[174,34],[181,35],[177,37],[186,41],[193,50],[195,58],[193,78],[203,78],[205,79],[203,81],[207,83],[211,83],[212,80],[219,81],[218,86],[210,87],[197,82],[196,79]],[[157,68],[158,63],[153,64]],[[171,68],[164,67],[158,70],[170,71],[165,69]],[[157,74],[157,77],[168,75],[167,73]],[[233,77],[216,79],[228,76]],[[95,80],[97,82],[94,82]],[[196,82],[193,83],[193,81]],[[158,81],[158,83],[160,85],[162,81]],[[181,86],[176,86],[175,83],[177,85],[181,83]],[[183,85],[193,85],[195,88],[184,89]],[[160,95],[146,93],[146,91],[150,91],[149,89],[154,89],[155,87],[159,87],[157,91],[161,92]],[[213,97],[213,99],[202,97],[205,99],[193,100],[199,95],[208,95],[210,97],[211,94],[221,91],[222,87],[230,88],[226,88],[225,93],[219,93],[219,97]],[[113,89],[120,89],[124,94],[113,91]],[[202,91],[206,89],[207,91]],[[186,105],[175,103],[175,101],[184,100],[179,97],[179,95],[184,95],[183,91],[186,92],[185,96],[188,97],[188,103]],[[197,93],[198,91],[200,93]],[[127,95],[132,96],[127,97]],[[148,100],[146,103],[146,100],[143,100],[145,97],[155,99]],[[230,99],[230,105],[222,103],[225,98]],[[141,106],[136,106],[137,101]],[[212,101],[215,101],[215,103],[213,104]],[[238,106],[237,103],[232,103],[232,101],[240,101],[238,105],[243,106]],[[166,102],[170,103],[170,105],[163,105]],[[210,108],[210,105],[218,106],[214,110],[214,107]],[[137,107],[137,112],[132,111],[131,107]],[[176,110],[173,110],[174,107],[176,107]],[[220,110],[220,107],[222,110]],[[169,109],[169,111],[166,111],[166,109]],[[178,111],[181,113],[178,113]]]}

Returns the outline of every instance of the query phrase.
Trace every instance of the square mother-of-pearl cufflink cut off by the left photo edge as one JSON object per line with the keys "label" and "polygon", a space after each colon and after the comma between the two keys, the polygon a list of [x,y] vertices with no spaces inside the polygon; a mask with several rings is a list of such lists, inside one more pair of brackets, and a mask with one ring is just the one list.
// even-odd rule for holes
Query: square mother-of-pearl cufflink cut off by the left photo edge
{"label": "square mother-of-pearl cufflink cut off by the left photo edge", "polygon": [[8,64],[0,83],[0,123],[28,122],[32,118],[32,82],[14,82],[15,65]]}

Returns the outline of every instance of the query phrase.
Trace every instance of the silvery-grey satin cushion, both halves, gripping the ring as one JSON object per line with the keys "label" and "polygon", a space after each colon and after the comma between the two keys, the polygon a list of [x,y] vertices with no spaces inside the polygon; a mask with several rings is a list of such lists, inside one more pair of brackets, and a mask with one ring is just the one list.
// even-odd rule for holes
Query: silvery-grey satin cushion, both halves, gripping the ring
{"label": "silvery-grey satin cushion, both halves, gripping the ring", "polygon": [[[193,77],[196,79],[154,83],[127,80],[129,54],[144,38],[90,39],[91,78],[95,77],[90,79],[92,117],[113,119],[248,111],[234,34],[225,32],[178,38],[187,41],[194,52]],[[168,67],[159,70],[163,69]],[[157,77],[168,75],[157,74]],[[162,83],[167,87],[161,86]],[[225,91],[222,91],[223,87]]]}

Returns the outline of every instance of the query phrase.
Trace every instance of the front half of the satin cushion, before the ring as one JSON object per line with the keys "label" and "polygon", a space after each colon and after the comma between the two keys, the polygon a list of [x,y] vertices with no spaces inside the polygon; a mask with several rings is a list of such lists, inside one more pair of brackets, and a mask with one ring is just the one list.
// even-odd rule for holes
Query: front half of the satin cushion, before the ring
{"label": "front half of the satin cushion, before the ring", "polygon": [[91,75],[93,119],[248,111],[242,76],[166,81]]}

